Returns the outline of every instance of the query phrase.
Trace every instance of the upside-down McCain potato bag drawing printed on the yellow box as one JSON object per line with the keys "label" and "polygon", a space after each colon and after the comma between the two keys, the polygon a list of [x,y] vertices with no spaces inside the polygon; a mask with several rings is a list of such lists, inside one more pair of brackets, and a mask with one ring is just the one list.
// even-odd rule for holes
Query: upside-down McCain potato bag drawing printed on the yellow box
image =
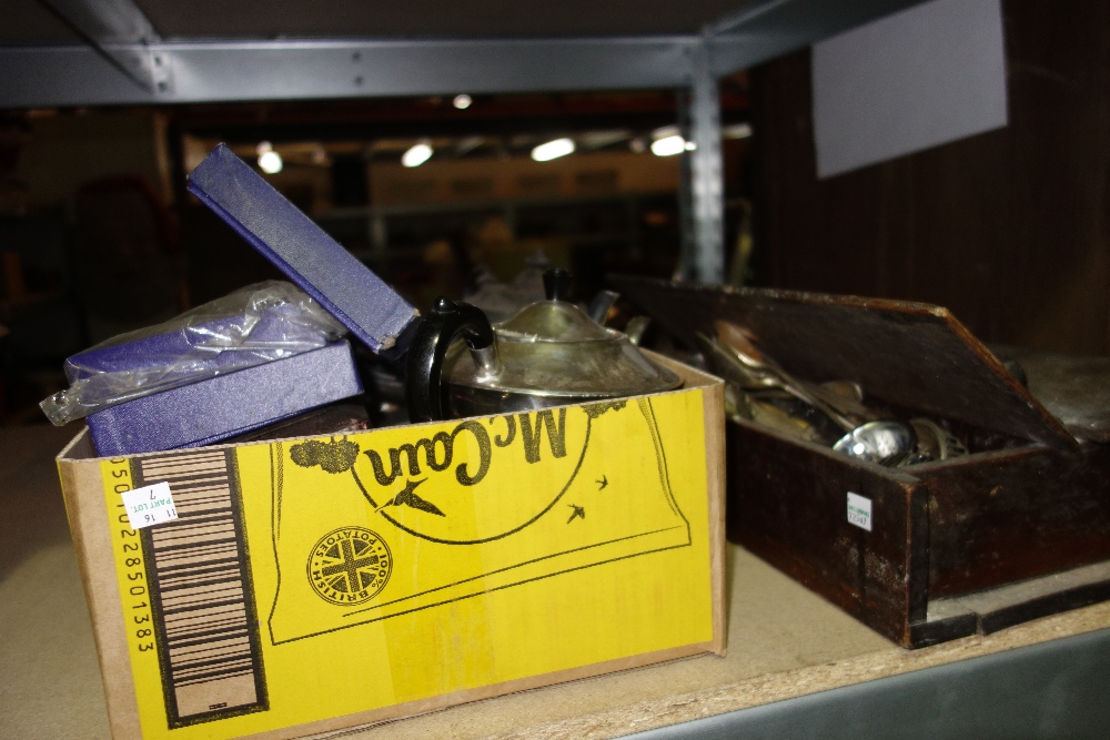
{"label": "upside-down McCain potato bag drawing printed on the yellow box", "polygon": [[[668,416],[618,401],[273,444],[274,641],[687,546],[663,429],[702,419]],[[302,588],[282,575],[306,554]]]}

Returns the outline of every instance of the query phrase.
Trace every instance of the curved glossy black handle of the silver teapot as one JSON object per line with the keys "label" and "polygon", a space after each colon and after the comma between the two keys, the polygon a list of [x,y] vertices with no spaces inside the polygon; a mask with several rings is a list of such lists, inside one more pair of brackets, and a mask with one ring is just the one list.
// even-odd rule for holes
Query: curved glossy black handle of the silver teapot
{"label": "curved glossy black handle of the silver teapot", "polygon": [[493,327],[482,310],[468,303],[437,298],[432,311],[421,320],[408,346],[405,401],[408,419],[414,424],[447,418],[447,396],[440,376],[447,348],[460,334],[476,362],[478,356],[493,353],[493,358],[485,362],[496,363]]}

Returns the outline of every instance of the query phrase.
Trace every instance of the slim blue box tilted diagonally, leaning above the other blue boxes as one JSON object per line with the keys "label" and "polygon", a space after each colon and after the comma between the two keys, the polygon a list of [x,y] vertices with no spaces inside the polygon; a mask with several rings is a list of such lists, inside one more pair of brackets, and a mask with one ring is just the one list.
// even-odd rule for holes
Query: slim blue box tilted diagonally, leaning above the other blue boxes
{"label": "slim blue box tilted diagonally, leaning above the other blue boxes", "polygon": [[225,144],[192,171],[189,191],[373,352],[408,348],[418,312]]}

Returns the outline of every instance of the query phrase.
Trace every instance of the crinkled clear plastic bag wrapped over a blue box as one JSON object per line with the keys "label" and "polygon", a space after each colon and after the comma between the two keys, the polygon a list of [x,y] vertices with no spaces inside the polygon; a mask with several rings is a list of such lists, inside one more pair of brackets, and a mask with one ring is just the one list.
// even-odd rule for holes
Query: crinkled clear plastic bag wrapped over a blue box
{"label": "crinkled clear plastic bag wrapped over a blue box", "polygon": [[39,406],[56,425],[216,375],[316,349],[346,330],[292,283],[235,291],[65,361],[70,387]]}

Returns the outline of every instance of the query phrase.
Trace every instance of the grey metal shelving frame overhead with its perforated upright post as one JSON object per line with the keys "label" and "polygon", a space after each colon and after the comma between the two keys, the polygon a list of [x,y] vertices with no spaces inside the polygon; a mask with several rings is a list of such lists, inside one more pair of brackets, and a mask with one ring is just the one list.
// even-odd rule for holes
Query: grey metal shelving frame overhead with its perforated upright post
{"label": "grey metal shelving frame overhead with its perforated upright post", "polygon": [[[162,39],[133,0],[41,0],[87,41],[0,47],[0,108],[675,89],[690,155],[687,278],[725,274],[717,80],[920,0],[754,0],[698,34],[375,41]],[[743,0],[738,0],[743,2]]]}

